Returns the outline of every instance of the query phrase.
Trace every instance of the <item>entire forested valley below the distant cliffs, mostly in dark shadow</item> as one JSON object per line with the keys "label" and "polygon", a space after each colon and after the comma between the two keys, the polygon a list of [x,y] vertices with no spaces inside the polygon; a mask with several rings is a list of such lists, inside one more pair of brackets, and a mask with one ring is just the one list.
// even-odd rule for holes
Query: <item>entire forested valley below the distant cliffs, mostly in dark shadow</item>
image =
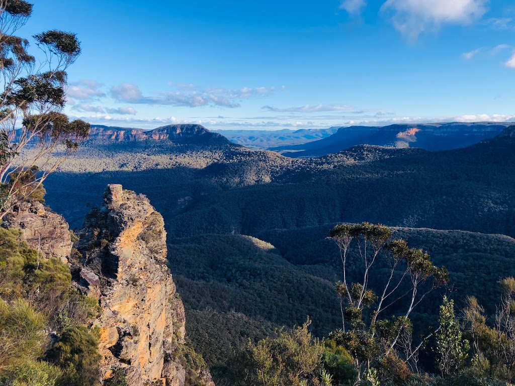
{"label": "entire forested valley below the distant cliffs, mostly in dark shadow", "polygon": [[[233,355],[249,339],[286,339],[276,329],[302,326],[307,316],[313,339],[341,327],[334,291],[341,261],[329,236],[342,221],[392,226],[395,238],[427,251],[435,267],[449,271],[448,284],[410,313],[414,341],[438,326],[444,295],[453,299],[456,319],[475,296],[492,325],[503,296],[497,282],[515,275],[512,131],[464,149],[363,145],[318,159],[228,142],[90,140],[49,178],[48,202],[79,226],[83,210],[98,203],[95,189],[108,182],[146,194],[165,219],[188,334],[215,381],[235,384],[227,364],[240,363]],[[105,170],[95,172],[100,165]],[[350,252],[352,260],[356,253]],[[349,269],[349,277],[359,275]],[[371,277],[381,283],[381,276]],[[427,344],[436,345],[435,339],[431,335]],[[439,374],[431,350],[424,349],[419,364]],[[470,367],[471,358],[463,366]],[[390,379],[375,366],[378,381]],[[472,384],[476,373],[462,380],[449,375],[450,382]],[[360,377],[364,382],[366,375]],[[333,383],[349,379],[340,381]]]}

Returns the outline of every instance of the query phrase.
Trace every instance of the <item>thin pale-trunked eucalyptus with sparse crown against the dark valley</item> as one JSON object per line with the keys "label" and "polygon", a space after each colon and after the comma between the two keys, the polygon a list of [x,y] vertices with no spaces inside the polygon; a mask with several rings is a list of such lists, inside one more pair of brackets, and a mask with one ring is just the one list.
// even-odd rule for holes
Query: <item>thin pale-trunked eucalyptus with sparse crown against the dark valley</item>
{"label": "thin pale-trunked eucalyptus with sparse crown against the dark valley", "polygon": [[340,224],[331,237],[343,278],[336,285],[342,329],[332,338],[348,350],[362,375],[374,361],[399,363],[400,352],[404,363],[416,360],[421,346],[411,347],[409,315],[428,293],[448,283],[447,270],[436,267],[428,253],[394,239],[384,225]]}

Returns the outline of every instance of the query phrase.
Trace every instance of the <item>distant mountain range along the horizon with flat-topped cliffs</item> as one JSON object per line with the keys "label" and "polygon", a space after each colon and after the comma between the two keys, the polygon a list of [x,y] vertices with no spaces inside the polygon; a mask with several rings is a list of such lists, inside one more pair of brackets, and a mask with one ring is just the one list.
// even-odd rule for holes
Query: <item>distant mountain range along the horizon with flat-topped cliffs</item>
{"label": "distant mountain range along the horizon with flat-topped cliffs", "polygon": [[511,122],[443,122],[390,126],[351,126],[301,130],[219,130],[201,125],[168,125],[153,130],[92,125],[90,138],[114,142],[170,139],[176,143],[220,142],[271,150],[288,157],[319,157],[358,145],[421,148],[430,151],[464,148],[499,135]]}

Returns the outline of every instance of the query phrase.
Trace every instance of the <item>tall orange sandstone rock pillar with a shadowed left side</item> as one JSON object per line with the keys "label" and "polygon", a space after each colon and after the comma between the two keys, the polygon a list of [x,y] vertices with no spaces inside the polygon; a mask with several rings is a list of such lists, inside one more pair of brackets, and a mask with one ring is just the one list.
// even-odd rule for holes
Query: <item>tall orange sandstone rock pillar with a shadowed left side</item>
{"label": "tall orange sandstone rock pillar with a shadowed left side", "polygon": [[[148,199],[109,185],[86,218],[72,267],[79,290],[99,300],[101,376],[122,366],[131,386],[183,386],[184,307],[166,266],[163,218]],[[209,372],[199,374],[213,384]]]}

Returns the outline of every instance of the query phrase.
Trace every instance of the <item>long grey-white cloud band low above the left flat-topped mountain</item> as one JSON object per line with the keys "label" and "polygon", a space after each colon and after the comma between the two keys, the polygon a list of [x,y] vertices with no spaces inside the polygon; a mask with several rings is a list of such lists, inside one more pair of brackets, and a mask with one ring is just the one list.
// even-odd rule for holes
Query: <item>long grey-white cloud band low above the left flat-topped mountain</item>
{"label": "long grey-white cloud band low above the left flat-topped mountain", "polygon": [[[284,86],[280,89],[284,89]],[[239,100],[269,95],[276,91],[276,87],[242,87],[242,89],[228,90],[188,84],[178,85],[175,90],[163,92],[158,96],[144,96],[137,85],[123,83],[111,87],[110,91],[114,99],[122,102],[192,108],[202,106],[237,108],[241,106]]]}

